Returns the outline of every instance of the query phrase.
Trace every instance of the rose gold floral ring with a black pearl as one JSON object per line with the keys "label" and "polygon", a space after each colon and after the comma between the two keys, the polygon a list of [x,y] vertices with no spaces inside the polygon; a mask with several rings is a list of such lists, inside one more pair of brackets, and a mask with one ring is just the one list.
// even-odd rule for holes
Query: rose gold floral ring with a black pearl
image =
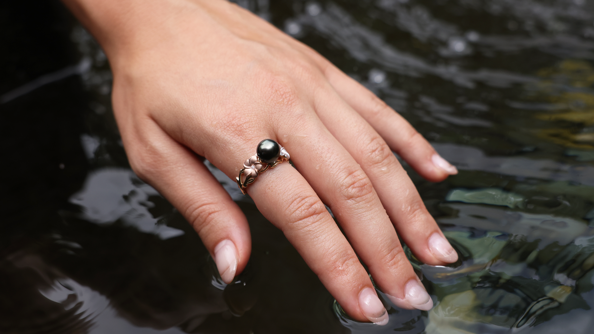
{"label": "rose gold floral ring with a black pearl", "polygon": [[274,140],[264,139],[258,144],[256,155],[245,160],[244,168],[239,171],[237,185],[241,193],[245,195],[245,188],[258,177],[258,174],[266,172],[268,168],[274,168],[283,161],[289,162],[289,153]]}

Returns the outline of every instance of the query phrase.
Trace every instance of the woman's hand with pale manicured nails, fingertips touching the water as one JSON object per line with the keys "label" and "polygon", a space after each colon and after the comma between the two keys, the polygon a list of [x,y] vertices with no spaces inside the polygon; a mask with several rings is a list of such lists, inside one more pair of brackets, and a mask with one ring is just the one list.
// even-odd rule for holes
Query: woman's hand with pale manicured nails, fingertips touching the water
{"label": "woman's hand with pale manicured nails, fingertips touching the water", "polygon": [[132,169],[194,226],[223,281],[249,259],[249,227],[200,156],[235,179],[258,143],[272,138],[296,169],[269,169],[249,185],[249,196],[343,309],[357,320],[387,322],[357,254],[394,303],[431,308],[396,231],[425,263],[453,262],[457,254],[392,150],[430,181],[457,171],[402,116],[229,2],[66,2],[110,60],[113,109]]}

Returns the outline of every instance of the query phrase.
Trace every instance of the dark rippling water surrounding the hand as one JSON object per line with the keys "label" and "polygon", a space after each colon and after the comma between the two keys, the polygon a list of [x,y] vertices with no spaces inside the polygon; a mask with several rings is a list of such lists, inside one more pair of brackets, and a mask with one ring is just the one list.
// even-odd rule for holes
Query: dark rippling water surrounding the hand
{"label": "dark rippling water surrounding the hand", "polygon": [[355,323],[248,216],[225,286],[129,169],[105,55],[57,1],[0,3],[1,333],[594,332],[594,1],[237,1],[401,112],[460,174],[409,169],[460,254],[411,261],[433,310]]}

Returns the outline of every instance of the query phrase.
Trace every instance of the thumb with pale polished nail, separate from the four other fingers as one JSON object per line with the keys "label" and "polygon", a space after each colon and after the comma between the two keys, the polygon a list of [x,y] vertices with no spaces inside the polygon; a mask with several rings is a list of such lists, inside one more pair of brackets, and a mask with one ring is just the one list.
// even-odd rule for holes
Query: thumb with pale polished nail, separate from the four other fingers
{"label": "thumb with pale polished nail, separate from the four other fingers", "polygon": [[[247,219],[204,163],[151,120],[132,140],[122,131],[134,172],[167,198],[200,235],[225,283],[242,272],[251,252]],[[150,139],[149,139],[150,138]]]}

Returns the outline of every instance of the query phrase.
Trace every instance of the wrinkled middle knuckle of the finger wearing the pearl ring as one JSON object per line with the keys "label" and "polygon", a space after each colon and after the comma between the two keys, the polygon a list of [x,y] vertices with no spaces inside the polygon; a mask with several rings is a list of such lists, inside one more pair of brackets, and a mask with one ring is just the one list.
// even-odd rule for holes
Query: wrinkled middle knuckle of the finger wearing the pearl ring
{"label": "wrinkled middle knuckle of the finger wearing the pearl ring", "polygon": [[289,225],[295,229],[308,229],[320,222],[328,211],[315,196],[298,196],[289,204]]}

